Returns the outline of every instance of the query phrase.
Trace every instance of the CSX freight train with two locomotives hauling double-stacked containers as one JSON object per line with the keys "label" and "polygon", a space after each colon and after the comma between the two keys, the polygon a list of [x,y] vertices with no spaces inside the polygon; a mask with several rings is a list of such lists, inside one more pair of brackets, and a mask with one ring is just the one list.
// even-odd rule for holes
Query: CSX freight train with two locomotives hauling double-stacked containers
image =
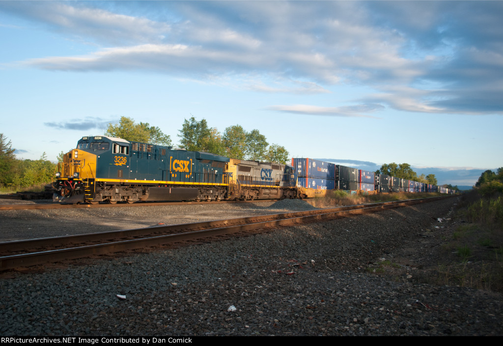
{"label": "CSX freight train with two locomotives hauling double-stacked containers", "polygon": [[[354,186],[351,178],[343,177],[348,167],[330,164],[333,174],[331,168],[321,169],[328,178],[314,177],[308,169],[301,169],[316,162],[292,159],[289,165],[247,161],[122,138],[86,136],[58,164],[53,200],[91,204],[255,200],[313,197],[335,188],[356,190],[350,188]],[[340,180],[336,181],[336,175]],[[327,185],[328,181],[332,183]],[[381,185],[373,186],[380,189]]]}

